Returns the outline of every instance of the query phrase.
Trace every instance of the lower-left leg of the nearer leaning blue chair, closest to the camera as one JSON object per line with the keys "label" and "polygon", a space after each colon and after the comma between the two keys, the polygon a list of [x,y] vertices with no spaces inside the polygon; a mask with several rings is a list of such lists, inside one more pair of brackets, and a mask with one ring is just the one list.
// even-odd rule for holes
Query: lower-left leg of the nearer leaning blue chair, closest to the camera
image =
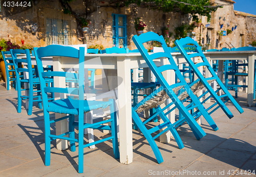
{"label": "lower-left leg of the nearer leaning blue chair, closest to the camera", "polygon": [[156,142],[152,139],[152,136],[151,134],[148,133],[148,130],[145,128],[144,125],[142,125],[142,121],[140,119],[140,117],[138,116],[138,114],[132,110],[132,117],[133,117],[133,120],[136,122],[136,124],[138,125],[140,131],[143,133],[143,135],[145,136],[147,142],[150,144],[155,156],[156,156],[156,159],[157,159],[157,162],[160,164],[163,162],[163,157],[160,153],[160,150],[159,148],[157,147],[157,144]]}

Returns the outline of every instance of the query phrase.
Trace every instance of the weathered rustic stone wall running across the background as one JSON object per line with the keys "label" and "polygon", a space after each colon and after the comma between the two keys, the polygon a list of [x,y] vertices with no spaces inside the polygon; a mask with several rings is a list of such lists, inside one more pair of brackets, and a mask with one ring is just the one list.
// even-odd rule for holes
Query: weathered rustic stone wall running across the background
{"label": "weathered rustic stone wall running across the background", "polygon": [[[69,20],[70,24],[70,44],[87,43],[90,45],[103,45],[104,48],[113,46],[113,17],[112,13],[126,15],[127,18],[127,47],[135,49],[136,46],[132,41],[132,37],[137,35],[134,28],[134,19],[140,17],[143,19],[146,27],[144,33],[153,31],[158,34],[162,34],[161,29],[169,26],[169,31],[173,32],[175,27],[180,26],[182,23],[191,22],[189,15],[181,15],[180,13],[163,13],[161,11],[151,11],[146,8],[111,8],[108,7],[108,2],[105,2],[105,7],[97,8],[99,4],[90,4],[90,9],[94,12],[88,16],[88,19],[92,21],[85,40],[79,39],[76,35],[77,24],[74,16],[68,15],[65,18]],[[101,2],[102,3],[102,2]],[[194,29],[196,33],[196,40],[200,43],[206,43],[207,30],[211,30],[211,43],[210,48],[216,48],[216,39],[219,39],[218,31],[232,29],[237,25],[237,29],[231,34],[223,36],[219,40],[218,48],[231,47],[230,43],[234,47],[239,47],[240,35],[243,35],[244,46],[248,46],[252,41],[256,40],[256,24],[255,20],[247,17],[246,15],[235,14],[233,11],[233,4],[216,0],[216,3],[224,4],[223,8],[219,8],[216,12],[211,14],[210,27],[205,28],[208,24],[207,17],[201,17],[201,25]],[[82,0],[72,1],[71,7],[78,13],[85,13],[86,9]],[[102,4],[100,4],[102,6]],[[25,40],[25,44],[33,46],[46,46],[46,16],[51,17],[52,14],[63,15],[63,10],[58,1],[40,1],[32,9],[25,12],[6,17],[5,7],[2,6],[2,12],[0,13],[0,39],[11,40],[16,44],[22,45],[22,39]],[[46,9],[48,12],[46,14]],[[219,19],[221,17],[221,19]],[[223,19],[226,21],[223,21]],[[36,34],[32,34],[30,31],[30,24],[37,23],[38,30]],[[220,24],[223,23],[223,28],[220,29]],[[229,23],[229,27],[227,26]],[[227,45],[227,44],[228,45]],[[152,47],[152,44],[145,44],[146,48]]]}

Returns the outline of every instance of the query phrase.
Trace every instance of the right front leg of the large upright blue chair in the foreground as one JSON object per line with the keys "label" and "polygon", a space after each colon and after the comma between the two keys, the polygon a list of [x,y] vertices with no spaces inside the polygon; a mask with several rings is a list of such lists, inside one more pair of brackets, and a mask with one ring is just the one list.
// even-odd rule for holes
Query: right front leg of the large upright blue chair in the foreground
{"label": "right front leg of the large upright blue chair in the foreground", "polygon": [[114,137],[112,139],[113,150],[116,159],[120,158],[119,148],[118,148],[118,139],[117,139],[117,117],[116,117],[116,103],[114,99],[111,99],[112,105],[110,106],[110,116],[113,119],[111,121],[111,134]]}

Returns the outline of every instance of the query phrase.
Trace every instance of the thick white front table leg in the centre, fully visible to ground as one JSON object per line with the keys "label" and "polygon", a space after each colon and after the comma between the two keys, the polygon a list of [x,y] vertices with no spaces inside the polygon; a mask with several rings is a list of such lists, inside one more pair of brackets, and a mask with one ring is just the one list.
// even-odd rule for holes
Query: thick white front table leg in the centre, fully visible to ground
{"label": "thick white front table leg in the centre, fully visible to ground", "polygon": [[120,163],[133,162],[131,60],[117,57]]}

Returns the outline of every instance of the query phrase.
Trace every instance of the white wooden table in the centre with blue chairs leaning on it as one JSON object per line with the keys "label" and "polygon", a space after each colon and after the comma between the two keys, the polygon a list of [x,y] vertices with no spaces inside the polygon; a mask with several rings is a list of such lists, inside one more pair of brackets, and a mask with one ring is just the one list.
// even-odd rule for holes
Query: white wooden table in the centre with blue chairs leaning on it
{"label": "white wooden table in the centre with blue chairs leaning on it", "polygon": [[[123,164],[130,164],[133,161],[133,139],[132,139],[132,103],[131,103],[131,69],[145,68],[144,81],[151,80],[151,71],[140,55],[140,53],[133,54],[86,54],[85,56],[86,68],[99,68],[106,71],[106,77],[111,78],[108,83],[109,89],[117,88],[118,90],[118,109],[119,109],[119,145],[120,145],[120,162]],[[158,66],[165,64],[166,59],[159,59],[156,61]],[[53,57],[53,70],[63,71],[65,68],[78,67],[78,60],[65,57]],[[149,74],[146,74],[149,73]],[[172,84],[175,82],[174,78],[170,77],[170,71],[164,73],[166,80]],[[54,86],[66,87],[65,80],[60,77],[54,78]],[[64,95],[57,95],[55,97],[62,98]],[[61,114],[55,114],[59,118]],[[171,119],[175,119],[172,115]],[[66,120],[56,123],[56,134],[67,132]],[[169,142],[170,134],[163,135],[161,142]],[[57,141],[58,149],[67,149],[68,144],[66,140]]]}

